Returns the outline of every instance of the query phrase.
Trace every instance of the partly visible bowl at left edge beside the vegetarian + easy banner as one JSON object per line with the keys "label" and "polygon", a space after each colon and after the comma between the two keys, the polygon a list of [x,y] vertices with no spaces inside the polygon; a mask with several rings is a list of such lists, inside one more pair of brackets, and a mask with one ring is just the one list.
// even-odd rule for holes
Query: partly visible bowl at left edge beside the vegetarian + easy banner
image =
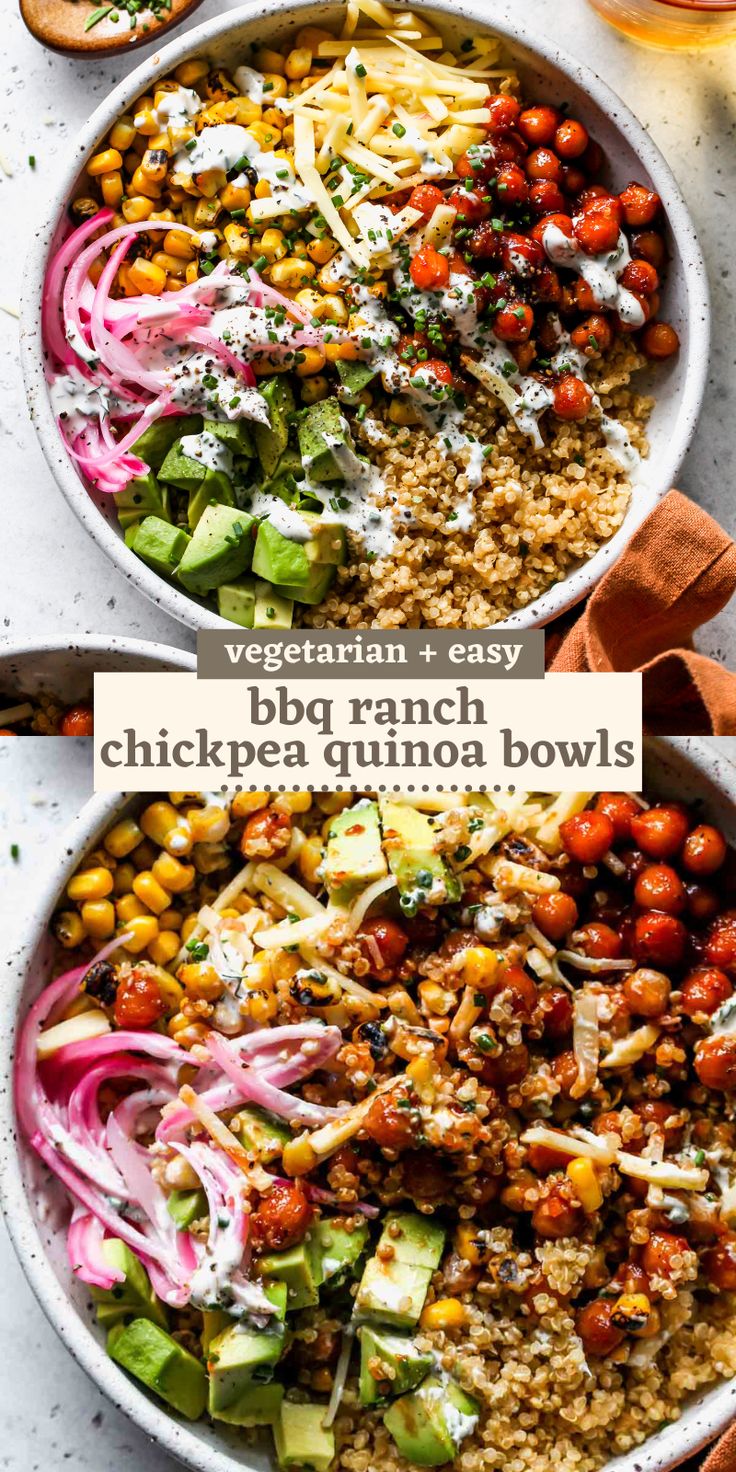
{"label": "partly visible bowl at left edge beside the vegetarian + easy banner", "polygon": [[32,643],[0,639],[0,690],[32,699],[56,695],[66,705],[87,701],[96,671],[116,674],[122,670],[196,670],[196,658],[172,645],[147,643],[144,639],[119,639],[116,634],[82,637],[59,645],[50,639]]}

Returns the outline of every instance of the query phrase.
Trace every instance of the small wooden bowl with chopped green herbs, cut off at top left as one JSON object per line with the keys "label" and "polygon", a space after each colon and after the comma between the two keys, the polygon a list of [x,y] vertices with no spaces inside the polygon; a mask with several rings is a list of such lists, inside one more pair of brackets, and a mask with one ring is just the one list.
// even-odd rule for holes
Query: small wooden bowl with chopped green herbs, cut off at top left
{"label": "small wooden bowl with chopped green herbs, cut off at top left", "polygon": [[[155,15],[138,10],[131,26],[128,10],[110,0],[19,0],[21,16],[31,35],[52,52],[65,56],[116,56],[158,41],[165,31],[184,21],[202,0],[171,0],[171,9]],[[99,16],[90,25],[91,16]],[[112,18],[118,16],[116,21]],[[87,28],[87,29],[85,29]]]}

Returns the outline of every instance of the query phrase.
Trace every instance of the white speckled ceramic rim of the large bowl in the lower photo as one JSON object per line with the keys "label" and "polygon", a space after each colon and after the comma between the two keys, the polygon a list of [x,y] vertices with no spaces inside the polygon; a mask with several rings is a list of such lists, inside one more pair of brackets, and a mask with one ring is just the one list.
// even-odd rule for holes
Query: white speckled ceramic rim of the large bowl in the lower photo
{"label": "white speckled ceramic rim of the large bowl in the lower photo", "polygon": [[[648,742],[646,783],[662,796],[702,802],[736,842],[736,767],[704,740],[670,737]],[[107,1359],[103,1335],[94,1323],[88,1294],[72,1278],[65,1235],[56,1231],[54,1183],[18,1138],[12,1100],[12,1058],[19,1020],[41,991],[53,957],[49,920],[85,852],[94,848],[110,821],[134,798],[97,796],[66,830],[52,852],[46,874],[34,886],[26,914],[10,944],[0,985],[0,1197],[10,1236],[28,1281],[74,1357],[110,1400],[152,1437],[162,1450],[196,1472],[269,1472],[268,1451],[238,1441],[236,1431],[190,1423],[158,1404],[137,1382]],[[718,1435],[736,1413],[736,1382],[698,1395],[680,1420],[651,1437],[605,1472],[668,1472]]]}

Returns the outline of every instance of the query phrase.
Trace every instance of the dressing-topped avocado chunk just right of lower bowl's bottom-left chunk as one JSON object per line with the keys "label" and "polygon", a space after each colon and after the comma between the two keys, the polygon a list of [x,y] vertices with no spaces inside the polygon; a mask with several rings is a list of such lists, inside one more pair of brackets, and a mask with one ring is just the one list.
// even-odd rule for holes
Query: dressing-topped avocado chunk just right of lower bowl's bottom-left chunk
{"label": "dressing-topped avocado chunk just right of lower bowl's bottom-left chunk", "polygon": [[209,1344],[209,1413],[215,1415],[233,1404],[253,1381],[271,1381],[274,1365],[284,1353],[287,1287],[265,1284],[263,1291],[277,1313],[266,1328],[250,1328],[247,1322],[230,1323]]}

